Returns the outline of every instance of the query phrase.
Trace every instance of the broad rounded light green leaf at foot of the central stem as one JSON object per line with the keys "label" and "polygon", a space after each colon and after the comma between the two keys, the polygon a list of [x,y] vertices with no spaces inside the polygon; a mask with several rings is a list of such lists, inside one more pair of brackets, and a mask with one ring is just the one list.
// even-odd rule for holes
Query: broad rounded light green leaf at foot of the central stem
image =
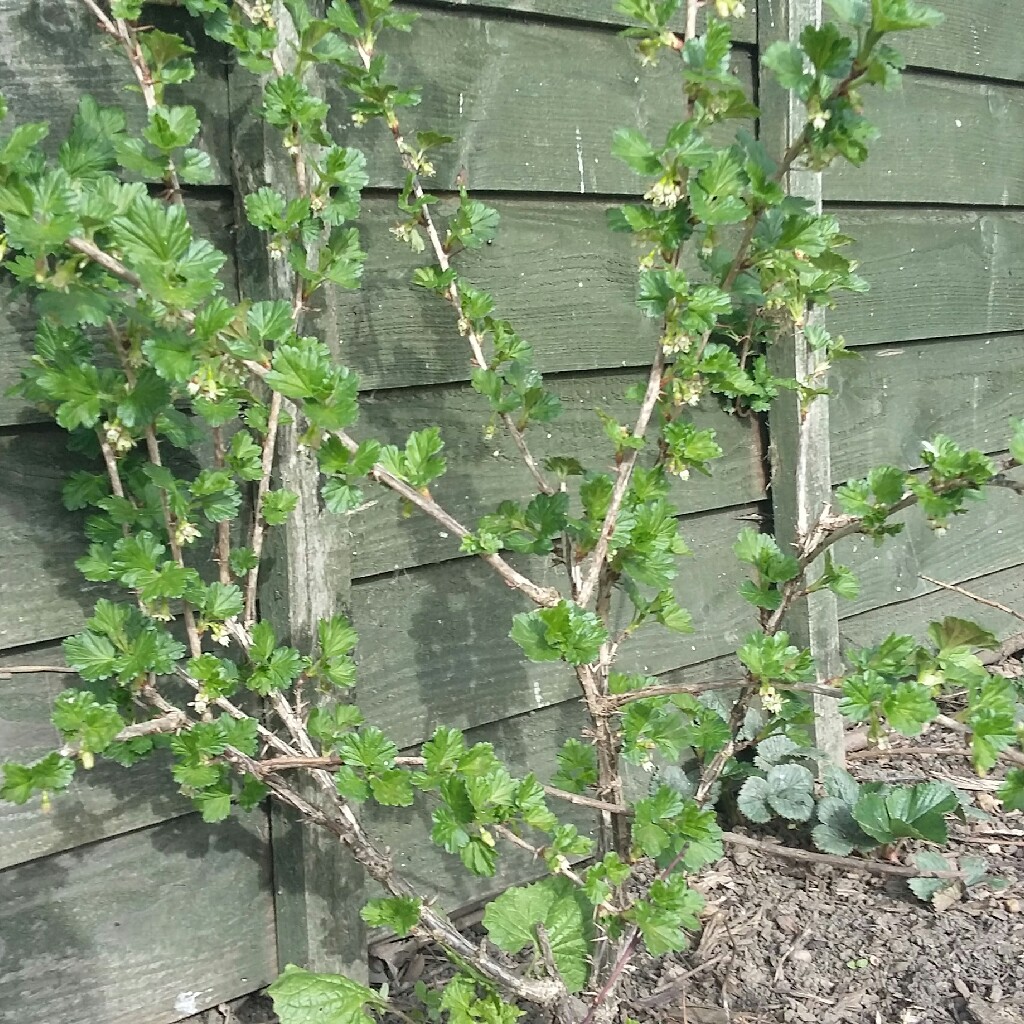
{"label": "broad rounded light green leaf at foot of the central stem", "polygon": [[570,992],[587,984],[592,908],[565,878],[506,890],[487,905],[483,927],[490,941],[508,953],[527,946],[540,954],[537,926],[543,925],[555,966]]}

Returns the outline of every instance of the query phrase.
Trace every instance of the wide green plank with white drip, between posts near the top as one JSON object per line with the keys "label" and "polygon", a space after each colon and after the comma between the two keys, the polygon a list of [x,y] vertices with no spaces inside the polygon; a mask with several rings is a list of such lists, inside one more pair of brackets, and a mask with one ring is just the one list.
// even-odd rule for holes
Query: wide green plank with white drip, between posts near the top
{"label": "wide green plank with white drip, between posts near the top", "polygon": [[[471,189],[642,191],[647,184],[611,157],[612,133],[633,126],[656,137],[682,117],[673,61],[641,68],[628,40],[604,29],[438,10],[393,36],[387,53],[392,80],[423,89],[422,104],[402,114],[407,133],[429,128],[456,140],[435,161],[434,188],[454,188],[465,169]],[[734,62],[750,82],[750,51]],[[343,101],[331,102],[332,131],[366,148],[372,182],[400,185],[386,127],[358,128]]]}

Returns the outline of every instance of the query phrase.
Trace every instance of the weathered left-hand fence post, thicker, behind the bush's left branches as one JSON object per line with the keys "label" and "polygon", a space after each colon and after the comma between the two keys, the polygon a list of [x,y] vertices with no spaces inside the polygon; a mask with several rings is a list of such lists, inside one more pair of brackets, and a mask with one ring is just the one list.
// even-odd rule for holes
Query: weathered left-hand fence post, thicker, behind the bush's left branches
{"label": "weathered left-hand fence post, thicker, behind the bush's left branches", "polygon": [[[289,45],[294,39],[292,22],[284,4],[274,3],[273,8],[279,52],[288,68],[294,59]],[[294,190],[293,169],[280,133],[259,117],[258,80],[234,67],[229,83],[240,286],[244,295],[291,302],[292,271],[287,261],[269,258],[260,232],[248,226],[242,200],[261,185]],[[303,331],[336,348],[337,313],[330,295],[318,295],[326,297],[308,310]],[[324,508],[316,460],[308,450],[300,450],[300,423],[283,424],[279,430],[274,486],[294,492],[299,502],[288,523],[267,535],[259,603],[279,638],[309,653],[317,621],[347,610],[350,548],[344,518],[329,516]],[[317,694],[307,692],[303,697],[315,702]],[[314,802],[318,799],[311,783],[306,795]],[[280,965],[297,964],[365,980],[366,930],[358,914],[362,869],[336,837],[302,823],[276,802],[271,804],[270,835]]]}

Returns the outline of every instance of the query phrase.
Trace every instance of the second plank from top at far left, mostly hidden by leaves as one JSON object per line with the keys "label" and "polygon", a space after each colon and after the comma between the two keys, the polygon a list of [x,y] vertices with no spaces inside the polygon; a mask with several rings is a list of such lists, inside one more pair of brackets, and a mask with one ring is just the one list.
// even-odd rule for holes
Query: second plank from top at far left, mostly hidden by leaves
{"label": "second plank from top at far left, mostly hidden by leaves", "polygon": [[[229,194],[211,191],[203,198],[190,196],[188,214],[197,236],[212,242],[222,252],[233,253],[234,213]],[[237,299],[233,258],[224,264],[219,278],[224,295]],[[35,331],[29,296],[25,292],[15,293],[10,279],[0,275],[0,426],[48,422],[44,413],[7,394],[20,380],[22,370],[29,366]]]}

